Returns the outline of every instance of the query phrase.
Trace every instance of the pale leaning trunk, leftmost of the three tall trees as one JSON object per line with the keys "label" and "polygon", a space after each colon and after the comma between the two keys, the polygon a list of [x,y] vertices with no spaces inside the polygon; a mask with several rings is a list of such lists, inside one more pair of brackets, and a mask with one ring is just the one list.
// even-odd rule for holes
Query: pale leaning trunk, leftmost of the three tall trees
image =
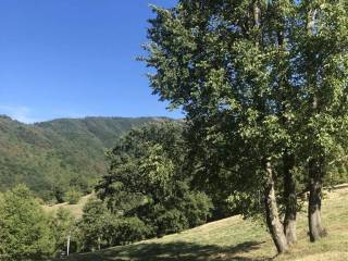
{"label": "pale leaning trunk, leftmost of the three tall trees", "polygon": [[284,234],[284,227],[278,215],[277,203],[275,199],[273,172],[270,161],[265,162],[265,174],[266,182],[264,186],[264,207],[266,224],[278,253],[283,253],[287,251],[288,245]]}

